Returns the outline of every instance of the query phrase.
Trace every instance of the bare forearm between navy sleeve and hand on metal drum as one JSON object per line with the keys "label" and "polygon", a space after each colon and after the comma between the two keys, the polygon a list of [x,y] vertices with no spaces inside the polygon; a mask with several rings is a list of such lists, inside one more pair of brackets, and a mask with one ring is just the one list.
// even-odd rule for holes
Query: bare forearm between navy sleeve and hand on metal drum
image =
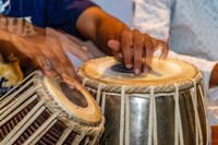
{"label": "bare forearm between navy sleeve and hand on metal drum", "polygon": [[107,47],[109,39],[119,39],[123,29],[129,29],[118,19],[107,14],[99,8],[89,8],[78,17],[77,31],[90,39],[105,52],[110,52]]}

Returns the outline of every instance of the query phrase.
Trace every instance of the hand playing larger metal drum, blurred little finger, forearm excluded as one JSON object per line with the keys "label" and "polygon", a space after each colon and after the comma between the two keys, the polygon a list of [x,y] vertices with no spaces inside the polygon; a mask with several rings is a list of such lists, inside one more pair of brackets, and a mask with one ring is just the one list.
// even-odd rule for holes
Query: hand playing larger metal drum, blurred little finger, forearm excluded
{"label": "hand playing larger metal drum, blurred little finger, forearm excluded", "polygon": [[[141,34],[137,29],[123,31],[120,40],[108,40],[108,47],[118,60],[122,60],[128,69],[134,69],[135,74],[149,72],[154,52],[161,48],[160,60],[168,56],[168,44]],[[143,67],[143,69],[142,69]]]}

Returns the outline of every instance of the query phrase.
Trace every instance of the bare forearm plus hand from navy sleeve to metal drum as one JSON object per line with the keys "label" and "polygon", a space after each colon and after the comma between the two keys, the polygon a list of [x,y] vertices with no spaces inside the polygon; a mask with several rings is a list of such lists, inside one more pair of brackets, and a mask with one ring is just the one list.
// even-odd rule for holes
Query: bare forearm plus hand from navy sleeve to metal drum
{"label": "bare forearm plus hand from navy sleeve to metal drum", "polygon": [[[142,70],[143,53],[146,53],[147,58],[153,56],[154,45],[147,34],[131,31],[121,21],[97,7],[89,8],[80,15],[76,28],[105,52],[122,59],[128,69],[134,68],[136,74]],[[146,70],[146,65],[143,70]]]}

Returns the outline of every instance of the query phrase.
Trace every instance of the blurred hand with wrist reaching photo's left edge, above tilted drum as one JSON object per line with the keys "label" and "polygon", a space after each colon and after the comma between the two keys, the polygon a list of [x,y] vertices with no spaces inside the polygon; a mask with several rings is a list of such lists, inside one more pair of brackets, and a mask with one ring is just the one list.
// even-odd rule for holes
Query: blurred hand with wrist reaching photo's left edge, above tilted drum
{"label": "blurred hand with wrist reaching photo's left edge, above tilted drum", "polygon": [[[21,26],[17,27],[21,28]],[[0,27],[0,32],[4,32],[5,36],[9,35],[9,38],[3,40],[10,41],[10,45],[8,45],[10,47],[8,49],[1,48],[1,52],[8,58],[21,59],[23,65],[32,62],[33,65],[41,69],[48,76],[51,75],[52,71],[56,71],[61,76],[69,75],[77,80],[73,64],[65,52],[71,52],[82,61],[87,61],[89,60],[87,50],[74,43],[70,35],[52,28],[43,29],[34,27],[32,31],[34,33],[26,35],[21,33],[21,31],[16,33],[11,32],[10,28]]]}

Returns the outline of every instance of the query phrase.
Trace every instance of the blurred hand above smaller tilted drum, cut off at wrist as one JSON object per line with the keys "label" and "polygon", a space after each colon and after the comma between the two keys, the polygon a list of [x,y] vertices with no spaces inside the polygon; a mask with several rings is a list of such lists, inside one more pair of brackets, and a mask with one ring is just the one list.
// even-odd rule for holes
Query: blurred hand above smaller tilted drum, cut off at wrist
{"label": "blurred hand above smaller tilted drum, cut off at wrist", "polygon": [[20,53],[31,58],[34,64],[39,67],[48,76],[55,70],[60,76],[66,74],[77,80],[73,64],[65,52],[77,56],[82,61],[89,59],[87,51],[73,43],[70,36],[52,28],[46,28],[45,33],[33,36],[12,35],[11,41],[15,44]]}

